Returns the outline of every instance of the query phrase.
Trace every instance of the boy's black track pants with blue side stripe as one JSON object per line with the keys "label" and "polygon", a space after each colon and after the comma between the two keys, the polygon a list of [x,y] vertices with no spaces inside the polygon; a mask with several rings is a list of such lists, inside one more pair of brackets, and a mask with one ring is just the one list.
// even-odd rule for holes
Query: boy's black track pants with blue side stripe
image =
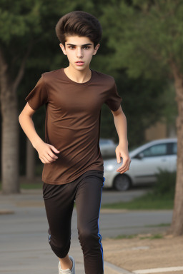
{"label": "boy's black track pants with blue side stripe", "polygon": [[102,235],[99,211],[105,178],[102,171],[86,171],[71,183],[43,184],[43,198],[49,223],[49,244],[56,256],[64,258],[71,244],[71,216],[76,203],[79,242],[86,274],[103,274]]}

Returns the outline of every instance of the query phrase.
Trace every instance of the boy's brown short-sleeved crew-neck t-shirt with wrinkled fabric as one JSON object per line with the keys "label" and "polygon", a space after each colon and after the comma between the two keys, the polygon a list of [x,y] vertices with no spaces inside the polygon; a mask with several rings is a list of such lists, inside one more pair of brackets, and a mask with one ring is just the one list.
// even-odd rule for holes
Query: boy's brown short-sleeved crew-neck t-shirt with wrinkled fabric
{"label": "boy's brown short-sleeved crew-neck t-shirt with wrinkled fabric", "polygon": [[89,81],[78,83],[59,68],[42,73],[25,100],[35,111],[45,104],[45,143],[60,151],[56,161],[44,163],[43,182],[61,185],[89,170],[104,171],[99,148],[102,104],[117,111],[122,101],[114,77],[91,69]]}

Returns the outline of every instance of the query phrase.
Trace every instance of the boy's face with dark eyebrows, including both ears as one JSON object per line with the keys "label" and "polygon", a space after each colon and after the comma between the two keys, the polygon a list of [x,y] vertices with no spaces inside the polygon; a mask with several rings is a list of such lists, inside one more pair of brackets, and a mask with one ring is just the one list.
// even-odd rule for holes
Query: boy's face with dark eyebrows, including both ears
{"label": "boy's face with dark eyebrows, including both ears", "polygon": [[[64,54],[69,60],[69,66],[73,66],[76,70],[82,71],[89,67],[92,56],[97,54],[100,44],[94,49],[94,43],[85,36],[66,36],[66,47],[59,44]],[[82,61],[83,63],[76,63]]]}

